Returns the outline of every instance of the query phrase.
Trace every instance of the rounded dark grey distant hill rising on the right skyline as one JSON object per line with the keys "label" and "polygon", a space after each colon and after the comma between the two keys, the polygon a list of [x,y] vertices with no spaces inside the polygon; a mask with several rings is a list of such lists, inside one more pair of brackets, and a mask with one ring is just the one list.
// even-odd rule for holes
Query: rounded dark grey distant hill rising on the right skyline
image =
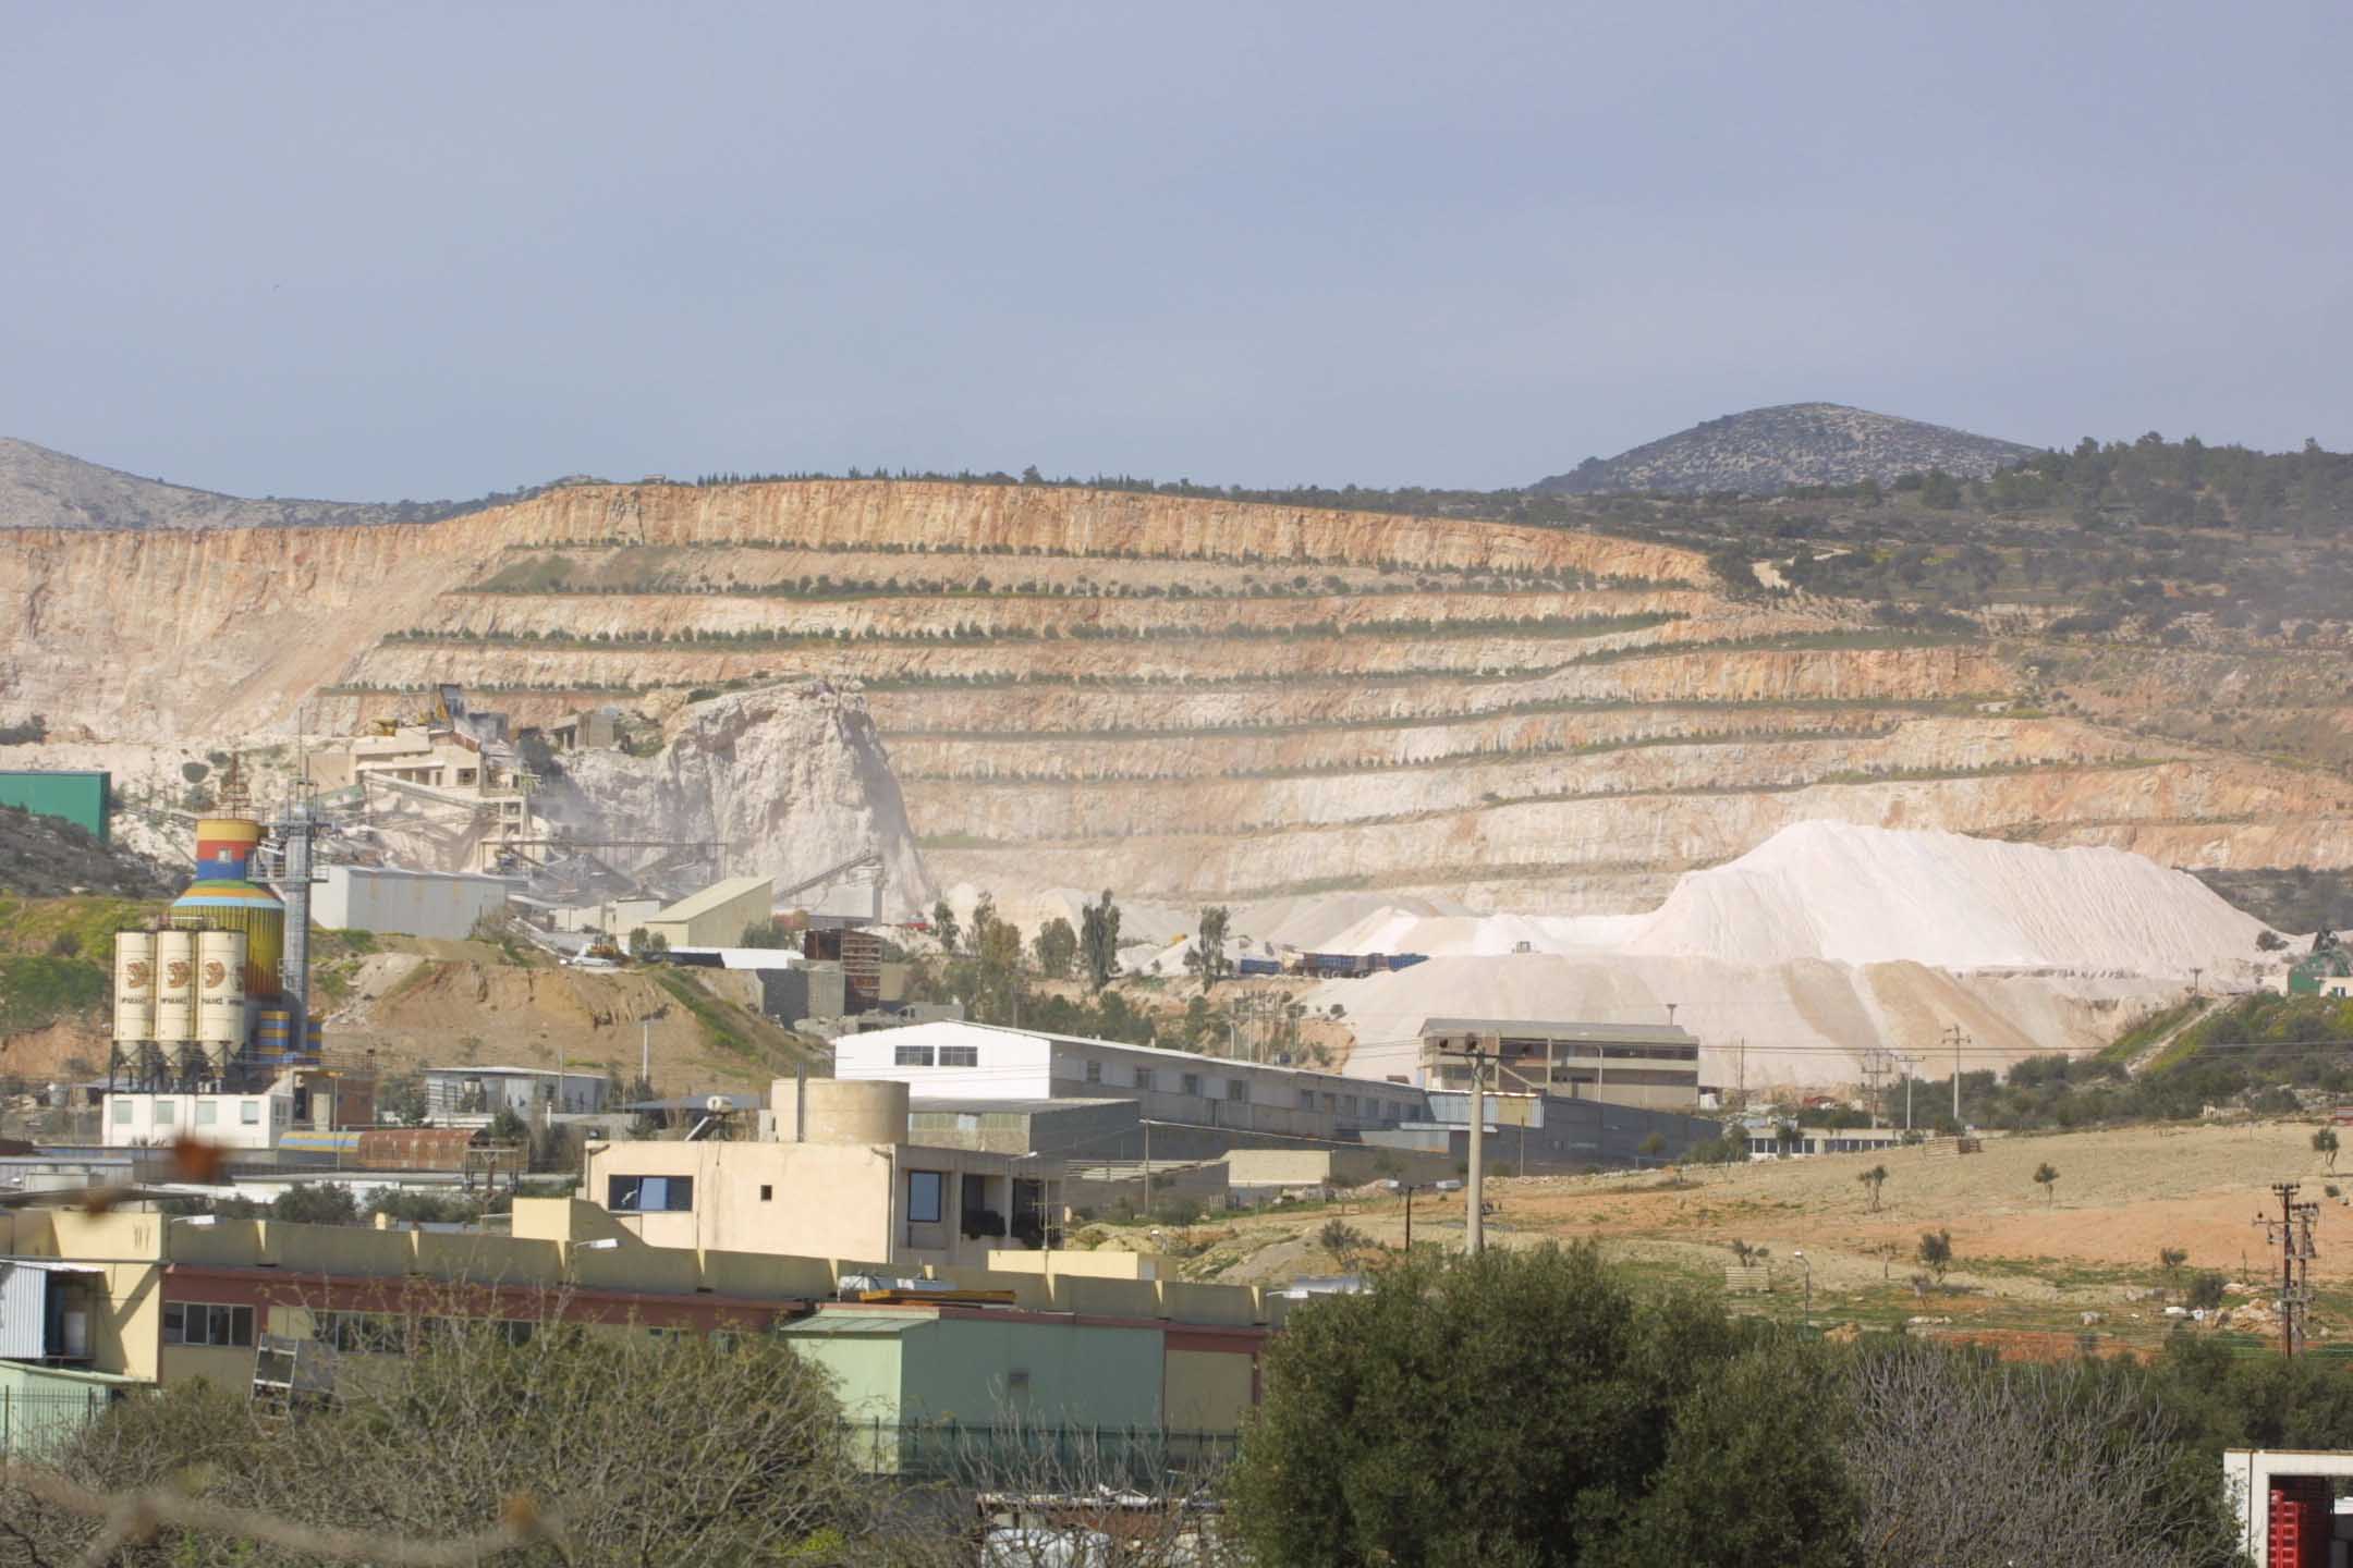
{"label": "rounded dark grey distant hill rising on the right skyline", "polygon": [[2033,447],[1998,442],[1915,418],[1871,414],[1835,402],[1786,402],[1774,409],[1725,414],[1647,442],[1614,458],[1586,458],[1539,491],[1605,496],[1624,491],[1744,491],[1769,494],[1793,484],[1892,482],[1897,475],[1941,468],[1981,480],[2035,456]]}

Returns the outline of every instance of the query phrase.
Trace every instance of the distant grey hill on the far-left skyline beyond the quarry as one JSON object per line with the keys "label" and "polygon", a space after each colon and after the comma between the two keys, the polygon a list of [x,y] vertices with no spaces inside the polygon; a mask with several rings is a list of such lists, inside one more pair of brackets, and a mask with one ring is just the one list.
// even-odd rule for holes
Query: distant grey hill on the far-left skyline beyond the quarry
{"label": "distant grey hill on the far-left skyline beyond the quarry", "polygon": [[249,501],[141,480],[120,468],[0,437],[0,529],[294,529],[365,522],[433,522],[539,494],[480,501]]}

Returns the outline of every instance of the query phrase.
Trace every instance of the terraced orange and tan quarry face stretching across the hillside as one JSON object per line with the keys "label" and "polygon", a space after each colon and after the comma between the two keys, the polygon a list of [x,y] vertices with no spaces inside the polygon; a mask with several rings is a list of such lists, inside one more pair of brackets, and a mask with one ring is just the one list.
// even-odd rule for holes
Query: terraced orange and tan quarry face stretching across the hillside
{"label": "terraced orange and tan quarry face stretching across the hillside", "polygon": [[1633,910],[1805,820],[2353,865],[2339,771],[2146,722],[2184,693],[2337,715],[2334,661],[2101,656],[2059,705],[2033,635],[1765,595],[1673,543],[1054,484],[0,531],[0,719],[61,743],[320,733],[461,682],[515,724],[664,719],[680,776],[647,788],[685,799],[713,696],[856,682],[929,875],[1000,898]]}

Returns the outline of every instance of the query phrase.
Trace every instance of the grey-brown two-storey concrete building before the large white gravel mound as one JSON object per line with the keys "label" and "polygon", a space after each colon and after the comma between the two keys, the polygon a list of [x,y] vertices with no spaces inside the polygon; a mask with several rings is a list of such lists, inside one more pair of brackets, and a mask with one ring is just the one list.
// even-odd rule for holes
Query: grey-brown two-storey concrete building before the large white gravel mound
{"label": "grey-brown two-storey concrete building before the large white gravel mound", "polygon": [[1417,1081],[1471,1088],[1471,1063],[1447,1051],[1473,1044],[1499,1058],[1492,1088],[1640,1110],[1699,1110],[1699,1039],[1675,1025],[1428,1018]]}

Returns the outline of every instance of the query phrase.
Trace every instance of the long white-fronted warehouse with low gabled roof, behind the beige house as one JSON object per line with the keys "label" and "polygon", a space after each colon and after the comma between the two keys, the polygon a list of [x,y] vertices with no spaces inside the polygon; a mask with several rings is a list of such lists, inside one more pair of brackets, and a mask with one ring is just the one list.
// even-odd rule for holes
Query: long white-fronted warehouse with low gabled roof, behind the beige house
{"label": "long white-fronted warehouse with low gabled roof, behind the beige house", "polygon": [[915,1023],[833,1041],[833,1077],[894,1079],[911,1100],[1136,1100],[1148,1121],[1334,1138],[1421,1121],[1407,1084],[1233,1063],[988,1023]]}

